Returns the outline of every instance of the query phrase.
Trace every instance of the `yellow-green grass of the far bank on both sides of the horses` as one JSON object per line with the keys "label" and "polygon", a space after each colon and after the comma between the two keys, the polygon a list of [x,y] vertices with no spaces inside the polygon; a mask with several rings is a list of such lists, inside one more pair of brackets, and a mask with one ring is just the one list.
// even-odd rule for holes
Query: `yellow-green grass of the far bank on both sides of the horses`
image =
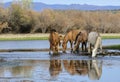
{"label": "yellow-green grass of the far bank on both sides of the horses", "polygon": [[[101,34],[102,39],[120,39],[120,34]],[[0,41],[10,40],[48,40],[49,34],[0,34]]]}

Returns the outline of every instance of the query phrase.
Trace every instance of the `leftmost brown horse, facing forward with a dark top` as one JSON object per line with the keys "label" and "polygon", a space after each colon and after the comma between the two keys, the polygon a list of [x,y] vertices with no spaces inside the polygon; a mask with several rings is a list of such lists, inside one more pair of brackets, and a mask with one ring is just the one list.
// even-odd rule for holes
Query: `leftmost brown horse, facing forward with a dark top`
{"label": "leftmost brown horse, facing forward with a dark top", "polygon": [[56,32],[56,30],[54,29],[52,29],[50,32],[49,43],[50,43],[49,54],[51,54],[51,51],[53,52],[53,54],[57,54],[59,51],[60,37],[58,32]]}

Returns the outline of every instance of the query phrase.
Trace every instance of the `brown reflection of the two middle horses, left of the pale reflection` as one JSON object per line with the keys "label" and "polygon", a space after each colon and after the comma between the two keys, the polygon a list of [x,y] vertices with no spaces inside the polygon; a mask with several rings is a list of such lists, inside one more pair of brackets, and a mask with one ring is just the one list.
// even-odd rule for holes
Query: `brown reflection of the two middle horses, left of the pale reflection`
{"label": "brown reflection of the two middle horses, left of the pale reflection", "polygon": [[84,60],[64,60],[64,67],[71,75],[87,75],[87,62]]}

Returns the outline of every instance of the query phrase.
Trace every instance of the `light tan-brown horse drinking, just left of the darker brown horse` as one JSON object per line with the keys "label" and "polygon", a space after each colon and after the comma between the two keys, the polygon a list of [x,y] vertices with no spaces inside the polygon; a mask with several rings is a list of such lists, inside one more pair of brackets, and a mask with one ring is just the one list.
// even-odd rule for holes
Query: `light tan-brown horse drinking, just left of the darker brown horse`
{"label": "light tan-brown horse drinking, just left of the darker brown horse", "polygon": [[62,44],[63,53],[66,52],[68,41],[70,42],[71,52],[73,51],[73,42],[75,41],[75,38],[79,32],[80,32],[80,30],[71,30],[64,36],[63,44]]}

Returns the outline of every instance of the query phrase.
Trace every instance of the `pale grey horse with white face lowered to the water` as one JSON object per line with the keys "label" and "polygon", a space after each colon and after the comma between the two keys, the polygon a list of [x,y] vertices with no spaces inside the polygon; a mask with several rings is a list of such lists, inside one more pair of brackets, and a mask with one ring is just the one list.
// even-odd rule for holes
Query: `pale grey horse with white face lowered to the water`
{"label": "pale grey horse with white face lowered to the water", "polygon": [[96,56],[98,48],[102,51],[101,36],[97,32],[90,32],[88,35],[88,52],[91,53],[92,51],[92,57]]}

